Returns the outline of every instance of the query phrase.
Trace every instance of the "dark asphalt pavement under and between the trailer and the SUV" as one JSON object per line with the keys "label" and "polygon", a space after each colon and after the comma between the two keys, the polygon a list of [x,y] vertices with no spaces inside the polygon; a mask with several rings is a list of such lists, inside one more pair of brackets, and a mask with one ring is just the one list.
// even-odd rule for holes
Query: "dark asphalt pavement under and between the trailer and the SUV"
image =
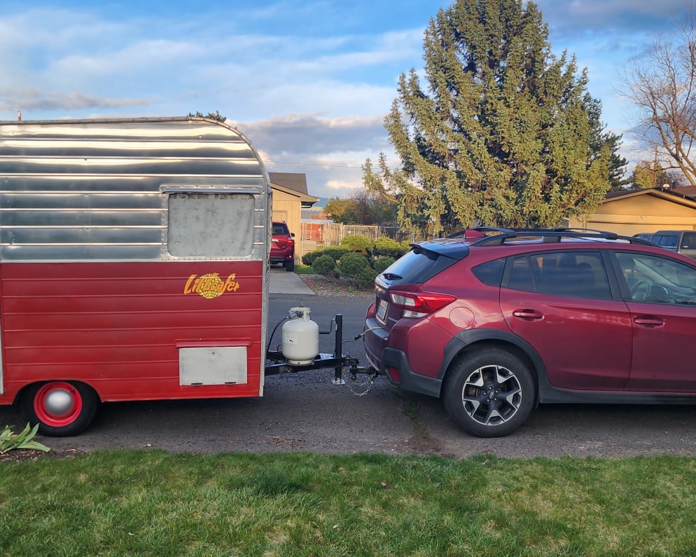
{"label": "dark asphalt pavement under and between the trailer and the SUV", "polygon": [[[282,277],[278,277],[282,273]],[[371,296],[340,298],[303,291],[294,273],[272,271],[269,328],[295,305],[309,305],[320,331],[337,313],[344,320],[344,354],[365,362],[360,341]],[[279,280],[274,280],[274,279]],[[283,287],[281,284],[290,286]],[[301,282],[301,281],[300,281]],[[295,289],[298,289],[295,291]],[[311,292],[311,291],[310,291]],[[335,338],[320,336],[320,351]],[[164,448],[167,451],[314,451],[320,453],[425,453],[466,457],[696,455],[693,406],[546,405],[501,439],[478,439],[447,420],[438,399],[403,394],[377,378],[364,385],[335,386],[333,369],[266,378],[259,399],[144,401],[104,404],[87,432],[41,439],[56,451],[97,448]],[[361,383],[359,376],[356,383]],[[13,408],[0,407],[0,426],[20,426]]]}

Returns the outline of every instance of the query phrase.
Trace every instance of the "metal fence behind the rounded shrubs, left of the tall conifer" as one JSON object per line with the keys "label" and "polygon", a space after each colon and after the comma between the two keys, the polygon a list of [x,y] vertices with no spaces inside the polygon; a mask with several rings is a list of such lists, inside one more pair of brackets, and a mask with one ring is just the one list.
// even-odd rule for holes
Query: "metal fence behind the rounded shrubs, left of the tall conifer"
{"label": "metal fence behind the rounded shrubs, left of the tall conifer", "polygon": [[415,232],[404,231],[396,226],[365,226],[337,224],[324,221],[303,221],[300,242],[300,258],[319,247],[339,245],[346,236],[362,235],[370,240],[391,238],[397,242],[415,242]]}

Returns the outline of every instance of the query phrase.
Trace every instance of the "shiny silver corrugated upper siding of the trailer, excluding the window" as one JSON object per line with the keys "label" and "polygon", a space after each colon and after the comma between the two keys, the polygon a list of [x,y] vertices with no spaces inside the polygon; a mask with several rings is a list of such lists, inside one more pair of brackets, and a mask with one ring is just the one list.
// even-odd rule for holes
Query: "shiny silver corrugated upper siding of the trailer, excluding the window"
{"label": "shiny silver corrugated upper siding of the trailer, excluding the window", "polygon": [[186,118],[0,123],[0,180],[0,261],[170,259],[167,186],[270,195],[242,135]]}

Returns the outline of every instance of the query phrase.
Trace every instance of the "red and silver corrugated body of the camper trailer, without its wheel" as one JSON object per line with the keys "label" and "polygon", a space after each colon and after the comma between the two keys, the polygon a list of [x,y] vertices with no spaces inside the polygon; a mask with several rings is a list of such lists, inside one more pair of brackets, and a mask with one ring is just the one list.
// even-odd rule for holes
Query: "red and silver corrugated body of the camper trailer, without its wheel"
{"label": "red and silver corrugated body of the camper trailer, without its wheel", "polygon": [[[0,123],[0,402],[50,379],[103,400],[262,394],[270,195],[250,144],[214,121]],[[216,256],[228,245],[244,253]],[[203,296],[207,276],[230,288]],[[249,376],[180,384],[181,351],[216,346],[241,347]]]}

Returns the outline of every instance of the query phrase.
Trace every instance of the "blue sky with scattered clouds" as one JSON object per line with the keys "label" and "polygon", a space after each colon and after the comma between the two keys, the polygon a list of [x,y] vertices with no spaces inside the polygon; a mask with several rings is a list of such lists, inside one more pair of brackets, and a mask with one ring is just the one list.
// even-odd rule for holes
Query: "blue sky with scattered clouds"
{"label": "blue sky with scattered clouds", "polygon": [[[0,120],[218,111],[269,172],[349,197],[367,158],[396,166],[384,116],[423,67],[441,0],[0,0]],[[538,0],[555,53],[576,55],[631,163],[635,108],[620,76],[692,0]]]}

